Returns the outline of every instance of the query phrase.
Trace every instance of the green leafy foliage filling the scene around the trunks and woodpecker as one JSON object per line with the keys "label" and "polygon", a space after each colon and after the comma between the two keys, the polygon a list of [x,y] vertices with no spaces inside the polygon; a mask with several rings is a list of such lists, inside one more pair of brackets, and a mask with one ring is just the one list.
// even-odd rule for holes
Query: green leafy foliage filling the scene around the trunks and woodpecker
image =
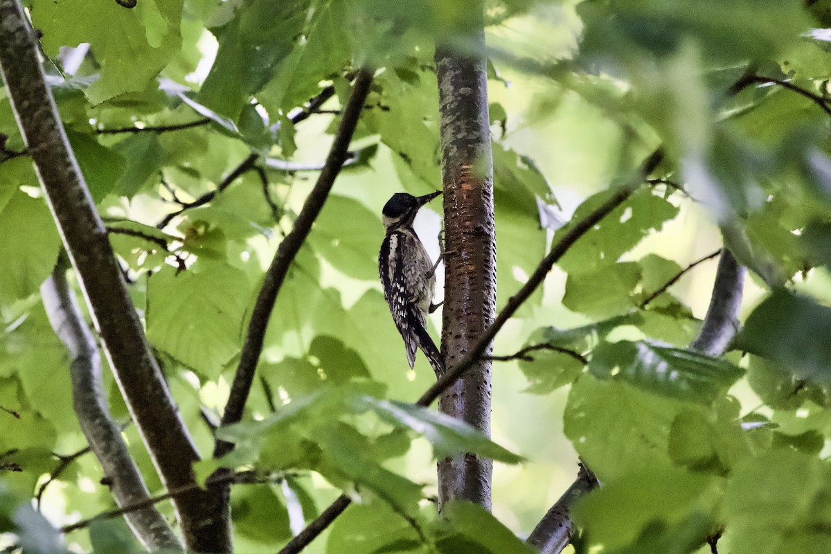
{"label": "green leafy foliage filling the scene around the trunks and woodpecker", "polygon": [[[577,473],[553,438],[561,428],[602,483],[573,508],[578,552],[831,549],[831,2],[26,6],[66,136],[204,458],[196,473],[258,476],[232,488],[238,552],[275,552],[341,492],[356,502],[305,552],[532,552],[518,537]],[[495,442],[412,404],[434,377],[423,357],[406,367],[377,279],[383,204],[440,188],[435,45],[464,53],[483,23],[497,310],[551,244],[632,188],[498,336],[512,360],[494,360]],[[236,449],[214,460],[266,268],[362,67],[375,77],[350,156],[278,295],[243,422],[219,429]],[[654,152],[661,163],[642,179]],[[691,232],[723,238],[705,246],[728,249],[761,291],[715,357],[689,348],[709,299],[676,285],[696,257],[644,242],[676,233],[691,210],[706,213]],[[439,227],[435,214],[420,220],[434,252]],[[118,518],[56,531],[114,506],[84,452],[69,356],[40,294],[61,248],[0,91],[2,540],[43,554],[137,551]],[[164,493],[103,364],[130,453]],[[465,452],[498,463],[495,515],[455,503],[437,517],[432,460]],[[170,503],[159,509],[174,520]]]}

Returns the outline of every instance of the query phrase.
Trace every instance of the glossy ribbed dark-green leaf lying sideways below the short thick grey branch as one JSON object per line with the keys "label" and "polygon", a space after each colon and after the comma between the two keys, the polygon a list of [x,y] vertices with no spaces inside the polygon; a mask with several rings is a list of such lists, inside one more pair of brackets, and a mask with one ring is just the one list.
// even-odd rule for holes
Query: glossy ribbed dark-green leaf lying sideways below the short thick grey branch
{"label": "glossy ribbed dark-green leaf lying sideways below the short thick grey branch", "polygon": [[645,390],[710,403],[743,374],[735,365],[686,349],[647,341],[604,342],[588,370],[598,379],[626,380]]}

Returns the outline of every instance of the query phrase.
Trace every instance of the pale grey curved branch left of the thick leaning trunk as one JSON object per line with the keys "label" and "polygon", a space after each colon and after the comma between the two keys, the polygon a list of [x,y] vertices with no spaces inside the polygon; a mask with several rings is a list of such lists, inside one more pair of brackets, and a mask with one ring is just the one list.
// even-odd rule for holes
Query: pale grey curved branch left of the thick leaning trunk
{"label": "pale grey curved branch left of the thick leaning trunk", "polygon": [[[68,267],[68,261],[61,255],[52,277],[43,283],[41,295],[52,329],[71,355],[72,405],[91,449],[96,453],[104,474],[110,480],[116,503],[125,506],[140,502],[150,498],[150,493],[139,468],[130,458],[127,445],[121,437],[120,426],[116,424],[106,405],[98,346],[95,337],[86,327],[81,310],[66,282]],[[87,449],[84,449],[61,459],[52,477],[43,483],[38,491],[38,504],[47,485],[86,451]],[[135,536],[151,551],[170,549],[183,552],[173,529],[154,507],[130,512],[127,522],[130,523]]]}

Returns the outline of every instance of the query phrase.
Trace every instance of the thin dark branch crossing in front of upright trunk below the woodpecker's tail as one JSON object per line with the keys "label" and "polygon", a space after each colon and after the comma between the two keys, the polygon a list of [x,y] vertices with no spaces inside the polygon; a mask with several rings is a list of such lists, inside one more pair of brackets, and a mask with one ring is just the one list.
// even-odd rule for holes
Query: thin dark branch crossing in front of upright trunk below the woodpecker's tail
{"label": "thin dark branch crossing in front of upright trunk below the woodpecker's tail", "polygon": [[[551,271],[554,264],[563,257],[565,252],[578,241],[590,228],[593,228],[597,222],[606,217],[614,208],[626,201],[633,192],[642,184],[645,177],[651,174],[661,163],[663,159],[663,150],[658,149],[652,152],[647,160],[643,163],[642,169],[638,172],[637,177],[633,178],[628,184],[623,185],[617,192],[608,199],[605,203],[598,206],[592,213],[589,213],[586,218],[574,223],[573,227],[561,238],[557,244],[551,248],[548,255],[539,262],[537,269],[525,282],[524,286],[519,289],[513,297],[510,298],[508,304],[496,316],[494,323],[488,327],[486,331],[480,336],[479,341],[471,347],[470,351],[459,361],[458,365],[449,368],[445,375],[436,381],[435,385],[431,386],[424,395],[416,402],[416,405],[429,406],[433,401],[439,397],[450,385],[452,385],[460,375],[465,373],[470,366],[474,365],[476,360],[484,354],[485,349],[490,341],[494,340],[494,336],[502,326],[509,320],[511,316],[519,309],[519,306],[531,297],[534,291],[539,287],[545,276]],[[352,500],[346,495],[342,495],[337,500],[326,508],[317,518],[308,524],[303,531],[289,541],[279,554],[297,554],[303,548],[307,547],[320,533],[323,532],[341,513],[347,509]]]}

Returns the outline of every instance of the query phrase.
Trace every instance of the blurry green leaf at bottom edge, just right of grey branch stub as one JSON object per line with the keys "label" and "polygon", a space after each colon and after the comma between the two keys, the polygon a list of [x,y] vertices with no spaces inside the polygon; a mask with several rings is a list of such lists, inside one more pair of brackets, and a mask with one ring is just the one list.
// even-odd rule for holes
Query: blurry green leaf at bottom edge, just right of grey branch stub
{"label": "blurry green leaf at bottom edge, just right of grey branch stub", "polygon": [[[593,545],[609,552],[686,554],[712,530],[719,486],[719,479],[701,473],[652,468],[603,483],[578,502],[573,517]],[[686,532],[675,536],[677,542],[666,540],[682,526]],[[661,538],[667,550],[652,546]]]}

